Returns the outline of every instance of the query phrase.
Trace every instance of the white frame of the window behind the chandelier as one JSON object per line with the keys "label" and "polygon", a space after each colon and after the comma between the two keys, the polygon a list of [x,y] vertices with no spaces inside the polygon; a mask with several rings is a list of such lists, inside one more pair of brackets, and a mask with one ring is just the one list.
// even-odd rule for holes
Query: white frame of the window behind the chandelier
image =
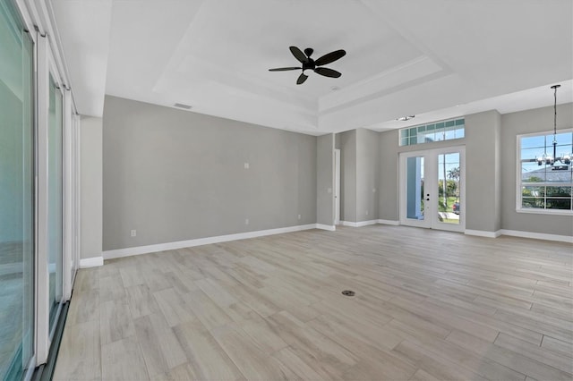
{"label": "white frame of the window behind the chandelier", "polygon": [[[569,129],[561,129],[557,130],[557,133],[573,133],[573,128]],[[565,210],[565,209],[547,209],[547,208],[533,208],[533,207],[522,207],[523,199],[522,199],[522,188],[523,182],[521,181],[521,139],[528,138],[532,136],[543,136],[543,135],[552,135],[553,131],[540,131],[540,132],[532,132],[532,133],[523,133],[519,134],[516,137],[516,212],[517,213],[530,213],[534,215],[552,215],[552,216],[573,216],[573,210]],[[547,146],[546,148],[552,148],[552,146]],[[573,163],[569,164],[573,165]],[[555,182],[535,182],[535,185],[539,186],[573,186],[573,180],[571,182],[565,183],[555,183]],[[571,200],[573,204],[573,197]]]}

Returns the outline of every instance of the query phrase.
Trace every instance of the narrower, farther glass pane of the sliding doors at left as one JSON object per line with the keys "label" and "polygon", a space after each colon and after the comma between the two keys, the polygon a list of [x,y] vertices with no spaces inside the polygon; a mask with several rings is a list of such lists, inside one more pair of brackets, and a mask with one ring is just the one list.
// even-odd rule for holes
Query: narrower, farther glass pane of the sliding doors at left
{"label": "narrower, farther glass pane of the sliding doors at left", "polygon": [[62,93],[50,75],[50,106],[47,137],[47,268],[49,272],[50,327],[62,300],[63,174]]}

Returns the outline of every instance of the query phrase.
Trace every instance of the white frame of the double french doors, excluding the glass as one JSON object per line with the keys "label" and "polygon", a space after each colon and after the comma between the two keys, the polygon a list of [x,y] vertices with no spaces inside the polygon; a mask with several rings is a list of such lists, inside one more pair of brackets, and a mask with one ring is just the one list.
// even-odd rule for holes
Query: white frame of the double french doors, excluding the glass
{"label": "white frame of the double french doors, excluding the glass", "polygon": [[[459,224],[442,223],[438,219],[437,199],[438,190],[438,157],[439,155],[459,152],[459,206],[461,213]],[[408,157],[424,157],[424,192],[430,192],[432,204],[424,206],[424,212],[428,211],[430,218],[415,220],[406,218],[406,159]],[[400,224],[417,226],[429,229],[447,230],[450,232],[464,232],[466,230],[466,146],[453,146],[442,148],[421,149],[416,151],[401,152],[398,157],[398,189],[399,189],[399,220]],[[434,195],[435,193],[435,195]],[[425,196],[424,196],[425,198]]]}

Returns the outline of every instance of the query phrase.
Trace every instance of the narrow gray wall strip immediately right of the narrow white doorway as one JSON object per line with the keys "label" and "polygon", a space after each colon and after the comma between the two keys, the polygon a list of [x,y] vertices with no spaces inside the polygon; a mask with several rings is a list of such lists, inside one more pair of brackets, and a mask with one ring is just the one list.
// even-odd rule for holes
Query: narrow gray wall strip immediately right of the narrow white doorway
{"label": "narrow gray wall strip immediately right of the narrow white doorway", "polygon": [[356,221],[356,130],[339,134],[340,221]]}

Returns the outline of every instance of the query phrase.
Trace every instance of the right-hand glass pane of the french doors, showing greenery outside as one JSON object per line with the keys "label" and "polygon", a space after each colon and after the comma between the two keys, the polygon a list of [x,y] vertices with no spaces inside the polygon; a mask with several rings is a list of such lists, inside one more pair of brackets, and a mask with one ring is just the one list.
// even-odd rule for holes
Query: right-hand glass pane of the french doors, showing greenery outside
{"label": "right-hand glass pane of the french doors, showing greenery outside", "polygon": [[459,152],[438,155],[438,220],[459,224]]}

